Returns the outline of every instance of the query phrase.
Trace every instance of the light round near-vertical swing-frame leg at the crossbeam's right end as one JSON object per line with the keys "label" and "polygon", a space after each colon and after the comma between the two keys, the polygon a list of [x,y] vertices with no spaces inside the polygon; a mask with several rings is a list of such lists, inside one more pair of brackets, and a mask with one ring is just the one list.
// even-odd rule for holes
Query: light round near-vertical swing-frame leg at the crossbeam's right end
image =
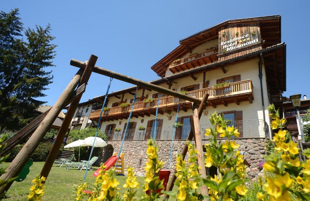
{"label": "light round near-vertical swing-frame leg at the crossbeam's right end", "polygon": [[[198,151],[197,158],[198,158],[198,165],[200,166],[199,174],[201,174],[202,178],[206,179],[208,173],[206,172],[206,167],[205,167],[205,162],[204,162],[199,116],[198,116],[197,105],[195,103],[193,103],[193,117],[190,119],[190,123],[191,123],[191,130],[194,131],[193,134],[195,136],[196,148]],[[209,196],[208,187],[206,185],[202,185],[200,190],[201,190],[202,195]]]}

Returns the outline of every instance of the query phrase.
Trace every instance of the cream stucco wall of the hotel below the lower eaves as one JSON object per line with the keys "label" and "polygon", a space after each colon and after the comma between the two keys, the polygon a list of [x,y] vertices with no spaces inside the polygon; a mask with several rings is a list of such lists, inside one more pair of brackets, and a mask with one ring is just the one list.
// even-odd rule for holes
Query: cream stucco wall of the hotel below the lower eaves
{"label": "cream stucco wall of the hotel below the lower eaves", "polygon": [[[223,77],[229,77],[232,75],[241,75],[241,81],[242,80],[248,80],[251,79],[253,83],[253,94],[254,94],[254,100],[253,103],[249,103],[249,101],[243,101],[240,102],[240,105],[237,105],[236,103],[228,103],[228,106],[225,107],[224,105],[217,105],[216,108],[213,108],[211,106],[208,106],[205,111],[208,111],[208,116],[202,116],[201,117],[201,124],[210,123],[208,117],[213,112],[225,112],[225,111],[242,111],[243,120],[256,120],[260,119],[263,120],[263,109],[262,109],[262,98],[261,98],[261,91],[260,91],[260,81],[259,81],[259,70],[258,70],[258,59],[253,59],[247,62],[231,65],[225,67],[226,74],[223,73],[221,69],[216,69],[213,71],[207,71],[206,72],[206,81],[209,80],[210,84],[209,87],[216,84],[216,80],[223,78]],[[177,82],[176,84],[173,83],[171,86],[171,89],[176,89],[176,91],[180,91],[181,87],[193,85],[193,84],[200,84],[201,89],[201,83],[203,79],[203,73],[196,74],[195,77],[197,80],[193,80],[191,77],[185,77],[178,80],[174,80]],[[162,84],[160,85],[162,87],[168,88],[168,85]],[[148,97],[152,97],[152,94],[157,93],[155,91],[148,91],[145,90],[144,95],[148,94]],[[142,90],[139,90],[137,93],[137,97],[141,96]],[[267,85],[266,85],[266,76],[265,71],[263,70],[263,96],[264,96],[264,103],[265,103],[265,116],[266,116],[266,122],[268,125],[270,125],[267,106],[269,105],[268,100],[268,94],[267,94]],[[133,95],[131,94],[125,94],[124,100],[127,99],[127,103],[130,102],[130,99],[133,98]],[[111,107],[112,103],[120,101],[120,99],[115,97],[110,97],[108,102],[108,107]],[[191,110],[188,110],[187,112],[180,111],[179,117],[182,116],[189,116],[192,114]],[[175,122],[175,115],[176,112],[171,112],[171,114],[164,113],[164,115],[159,114],[159,119],[164,119],[163,121],[163,127],[165,126],[172,126]],[[168,116],[172,116],[171,120],[168,120]],[[144,119],[144,122],[141,123],[141,119]],[[154,115],[151,115],[150,117],[144,116],[144,117],[133,117],[131,121],[137,122],[136,128],[139,126],[147,127],[147,122],[149,120],[155,119]],[[127,122],[126,119],[118,120],[118,121],[106,121],[102,123],[101,130],[105,130],[106,125],[108,124],[116,124],[117,128],[124,128],[125,123]]]}

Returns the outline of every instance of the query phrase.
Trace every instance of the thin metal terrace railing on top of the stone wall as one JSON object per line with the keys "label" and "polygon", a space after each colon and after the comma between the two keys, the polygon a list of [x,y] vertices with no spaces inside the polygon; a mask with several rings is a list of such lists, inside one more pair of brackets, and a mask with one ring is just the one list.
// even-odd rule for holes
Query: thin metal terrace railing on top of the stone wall
{"label": "thin metal terrace railing on top of the stone wall", "polygon": [[[231,126],[237,127],[240,136],[239,137],[268,137],[268,124],[263,120],[244,120],[244,121],[234,121],[230,124]],[[205,129],[209,128],[211,124],[201,124],[201,135],[202,139],[208,139],[208,136],[205,136]],[[160,140],[171,140],[173,135],[174,128],[172,126],[169,127],[158,127],[156,129],[156,139]],[[175,130],[175,139],[186,139],[191,127],[182,126],[180,128],[176,128]],[[146,128],[144,130],[138,129],[129,129],[127,130],[125,139],[126,140],[147,140],[150,139],[151,136],[154,136],[155,128]],[[108,130],[105,131],[107,135],[107,140],[122,140],[125,130],[114,131]]]}

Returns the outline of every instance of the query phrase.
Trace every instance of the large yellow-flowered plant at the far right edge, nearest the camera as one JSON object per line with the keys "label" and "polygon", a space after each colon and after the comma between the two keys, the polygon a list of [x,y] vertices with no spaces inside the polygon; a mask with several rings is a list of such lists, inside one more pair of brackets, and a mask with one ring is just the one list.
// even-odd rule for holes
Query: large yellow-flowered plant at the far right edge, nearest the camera
{"label": "large yellow-flowered plant at the far right edge, nearest the camera", "polygon": [[[287,130],[282,130],[286,124],[285,119],[279,118],[272,104],[268,107],[272,117],[271,127],[278,129],[273,137],[276,153],[264,156],[266,162],[263,168],[275,177],[267,177],[263,183],[263,193],[257,193],[258,200],[310,200],[310,159],[300,162],[300,153],[297,143],[294,143]],[[304,153],[310,156],[310,149]]]}

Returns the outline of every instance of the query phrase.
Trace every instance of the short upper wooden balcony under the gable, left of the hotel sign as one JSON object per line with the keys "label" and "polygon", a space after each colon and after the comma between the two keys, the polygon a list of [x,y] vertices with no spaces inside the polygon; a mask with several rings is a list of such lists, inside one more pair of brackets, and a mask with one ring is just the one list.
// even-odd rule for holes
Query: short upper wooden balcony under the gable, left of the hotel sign
{"label": "short upper wooden balcony under the gable, left of the hotel sign", "polygon": [[201,66],[210,62],[218,61],[218,52],[219,49],[216,47],[206,50],[202,53],[198,53],[196,55],[174,61],[170,63],[169,70],[173,73],[176,73],[190,68],[194,68],[196,66]]}

